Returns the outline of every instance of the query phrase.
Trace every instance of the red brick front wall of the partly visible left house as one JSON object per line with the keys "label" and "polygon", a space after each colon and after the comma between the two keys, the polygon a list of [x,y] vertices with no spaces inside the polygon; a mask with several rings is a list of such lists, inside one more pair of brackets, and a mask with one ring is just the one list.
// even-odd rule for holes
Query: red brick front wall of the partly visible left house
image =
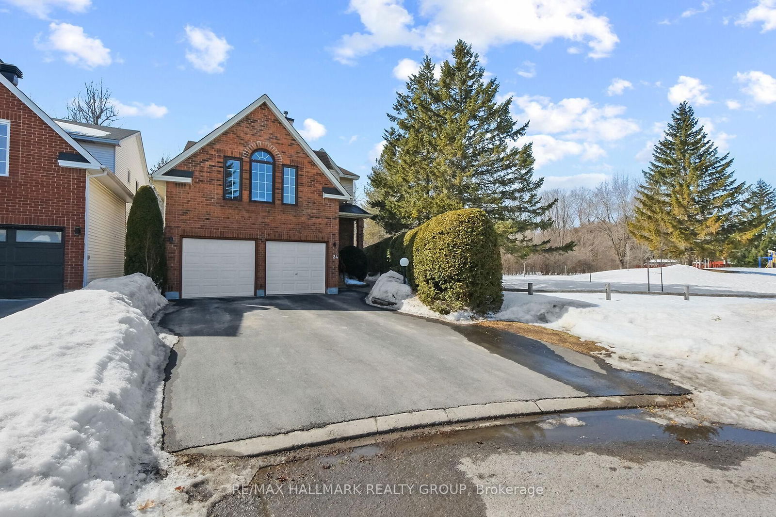
{"label": "red brick front wall of the partly visible left house", "polygon": [[[0,85],[0,119],[11,121],[9,175],[0,176],[0,224],[64,227],[64,288],[84,278],[85,171],[57,165],[75,150],[32,109]],[[81,227],[81,235],[73,234]]]}

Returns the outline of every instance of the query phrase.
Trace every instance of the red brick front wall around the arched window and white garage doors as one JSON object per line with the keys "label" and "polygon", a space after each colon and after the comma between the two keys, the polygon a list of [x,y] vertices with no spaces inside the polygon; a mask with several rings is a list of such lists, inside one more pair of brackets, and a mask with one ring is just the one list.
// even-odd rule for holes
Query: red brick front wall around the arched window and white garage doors
{"label": "red brick front wall around the arched window and white garage doors", "polygon": [[[251,199],[250,156],[266,149],[275,158],[275,201]],[[242,158],[242,200],[223,199],[223,157]],[[297,204],[282,204],[282,165],[297,170]],[[175,166],[194,172],[192,183],[169,182],[166,195],[168,291],[181,291],[181,244],[185,237],[255,239],[256,286],[265,289],[266,241],[327,243],[327,287],[338,286],[339,201],[325,199],[331,186],[323,172],[262,105],[191,157]]]}

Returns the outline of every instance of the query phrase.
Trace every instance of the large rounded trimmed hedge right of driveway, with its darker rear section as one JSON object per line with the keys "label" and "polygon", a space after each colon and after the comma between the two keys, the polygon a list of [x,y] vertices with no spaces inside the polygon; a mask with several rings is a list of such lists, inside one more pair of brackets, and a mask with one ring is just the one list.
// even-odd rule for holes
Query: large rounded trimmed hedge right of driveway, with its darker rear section
{"label": "large rounded trimmed hedge right of driveway, with its darker rear section", "polygon": [[494,224],[483,210],[442,213],[414,230],[365,248],[369,272],[402,273],[421,301],[442,314],[501,309],[501,254]]}

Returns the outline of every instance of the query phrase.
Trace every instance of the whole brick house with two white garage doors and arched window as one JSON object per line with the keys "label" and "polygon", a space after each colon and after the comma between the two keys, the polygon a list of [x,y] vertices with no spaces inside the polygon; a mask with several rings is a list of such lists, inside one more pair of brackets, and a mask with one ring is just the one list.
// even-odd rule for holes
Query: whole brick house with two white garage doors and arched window
{"label": "whole brick house with two white garage doors and arched window", "polygon": [[151,175],[165,197],[168,298],[337,293],[361,245],[353,181],[267,95]]}

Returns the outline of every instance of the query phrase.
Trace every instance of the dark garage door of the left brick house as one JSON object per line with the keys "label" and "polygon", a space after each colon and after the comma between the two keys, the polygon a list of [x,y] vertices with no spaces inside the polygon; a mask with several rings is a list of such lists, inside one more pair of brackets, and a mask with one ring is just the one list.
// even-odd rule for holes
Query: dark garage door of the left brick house
{"label": "dark garage door of the left brick house", "polygon": [[0,227],[0,298],[40,298],[61,293],[63,238],[63,228]]}

